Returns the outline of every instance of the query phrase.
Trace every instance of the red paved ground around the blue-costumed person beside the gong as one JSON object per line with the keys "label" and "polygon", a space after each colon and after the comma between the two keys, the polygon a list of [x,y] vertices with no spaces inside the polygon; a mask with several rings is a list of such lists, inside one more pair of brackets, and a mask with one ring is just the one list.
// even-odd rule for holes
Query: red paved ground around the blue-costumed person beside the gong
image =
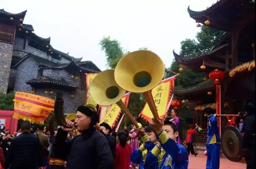
{"label": "red paved ground around the blue-costumed person beside the gong", "polygon": [[[198,154],[195,156],[188,156],[188,169],[204,169],[206,165],[206,156]],[[220,165],[219,169],[245,169],[246,164],[243,163],[236,163],[229,161],[226,158],[220,158]]]}

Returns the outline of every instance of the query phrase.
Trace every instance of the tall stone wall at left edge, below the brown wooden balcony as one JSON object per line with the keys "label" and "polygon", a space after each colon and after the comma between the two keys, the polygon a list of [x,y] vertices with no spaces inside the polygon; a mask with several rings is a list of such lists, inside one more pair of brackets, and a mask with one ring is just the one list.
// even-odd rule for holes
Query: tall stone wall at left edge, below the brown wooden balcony
{"label": "tall stone wall at left edge, below the brown wooden balcony", "polygon": [[0,42],[0,92],[6,93],[12,62],[13,45]]}

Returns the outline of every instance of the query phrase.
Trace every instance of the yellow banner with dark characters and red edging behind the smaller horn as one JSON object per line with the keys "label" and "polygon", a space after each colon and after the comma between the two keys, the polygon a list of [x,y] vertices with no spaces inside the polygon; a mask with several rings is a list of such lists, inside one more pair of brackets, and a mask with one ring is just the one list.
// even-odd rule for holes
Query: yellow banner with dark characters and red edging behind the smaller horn
{"label": "yellow banner with dark characters and red edging behind the smaller horn", "polygon": [[[122,98],[122,101],[124,102],[126,107],[129,102],[129,96],[130,96],[130,92],[124,94],[124,96]],[[113,128],[115,126],[116,120],[118,119],[120,114],[121,114],[121,109],[119,108],[119,106],[117,104],[112,104],[111,108],[109,109],[109,111],[106,113],[106,115],[103,117],[103,119],[100,121],[99,124],[101,124],[102,122],[105,122]]]}

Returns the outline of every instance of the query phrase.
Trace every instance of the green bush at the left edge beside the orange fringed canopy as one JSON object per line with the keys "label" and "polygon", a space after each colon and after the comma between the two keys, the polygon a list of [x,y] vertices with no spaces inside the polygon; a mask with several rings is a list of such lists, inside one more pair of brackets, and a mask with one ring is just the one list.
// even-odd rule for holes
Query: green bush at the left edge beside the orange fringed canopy
{"label": "green bush at the left edge beside the orange fringed canopy", "polygon": [[14,110],[14,92],[0,93],[0,110]]}

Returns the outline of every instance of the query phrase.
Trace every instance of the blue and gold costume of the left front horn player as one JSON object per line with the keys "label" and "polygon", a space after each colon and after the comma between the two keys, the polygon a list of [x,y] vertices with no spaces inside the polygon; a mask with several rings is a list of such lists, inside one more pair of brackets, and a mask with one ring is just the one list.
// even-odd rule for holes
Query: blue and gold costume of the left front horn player
{"label": "blue and gold costume of the left front horn player", "polygon": [[147,134],[142,136],[142,141],[145,143],[145,147],[142,144],[140,148],[135,149],[131,154],[131,161],[135,164],[140,164],[139,169],[143,169],[143,165],[146,160],[147,152],[151,151],[156,144],[152,143]]}

